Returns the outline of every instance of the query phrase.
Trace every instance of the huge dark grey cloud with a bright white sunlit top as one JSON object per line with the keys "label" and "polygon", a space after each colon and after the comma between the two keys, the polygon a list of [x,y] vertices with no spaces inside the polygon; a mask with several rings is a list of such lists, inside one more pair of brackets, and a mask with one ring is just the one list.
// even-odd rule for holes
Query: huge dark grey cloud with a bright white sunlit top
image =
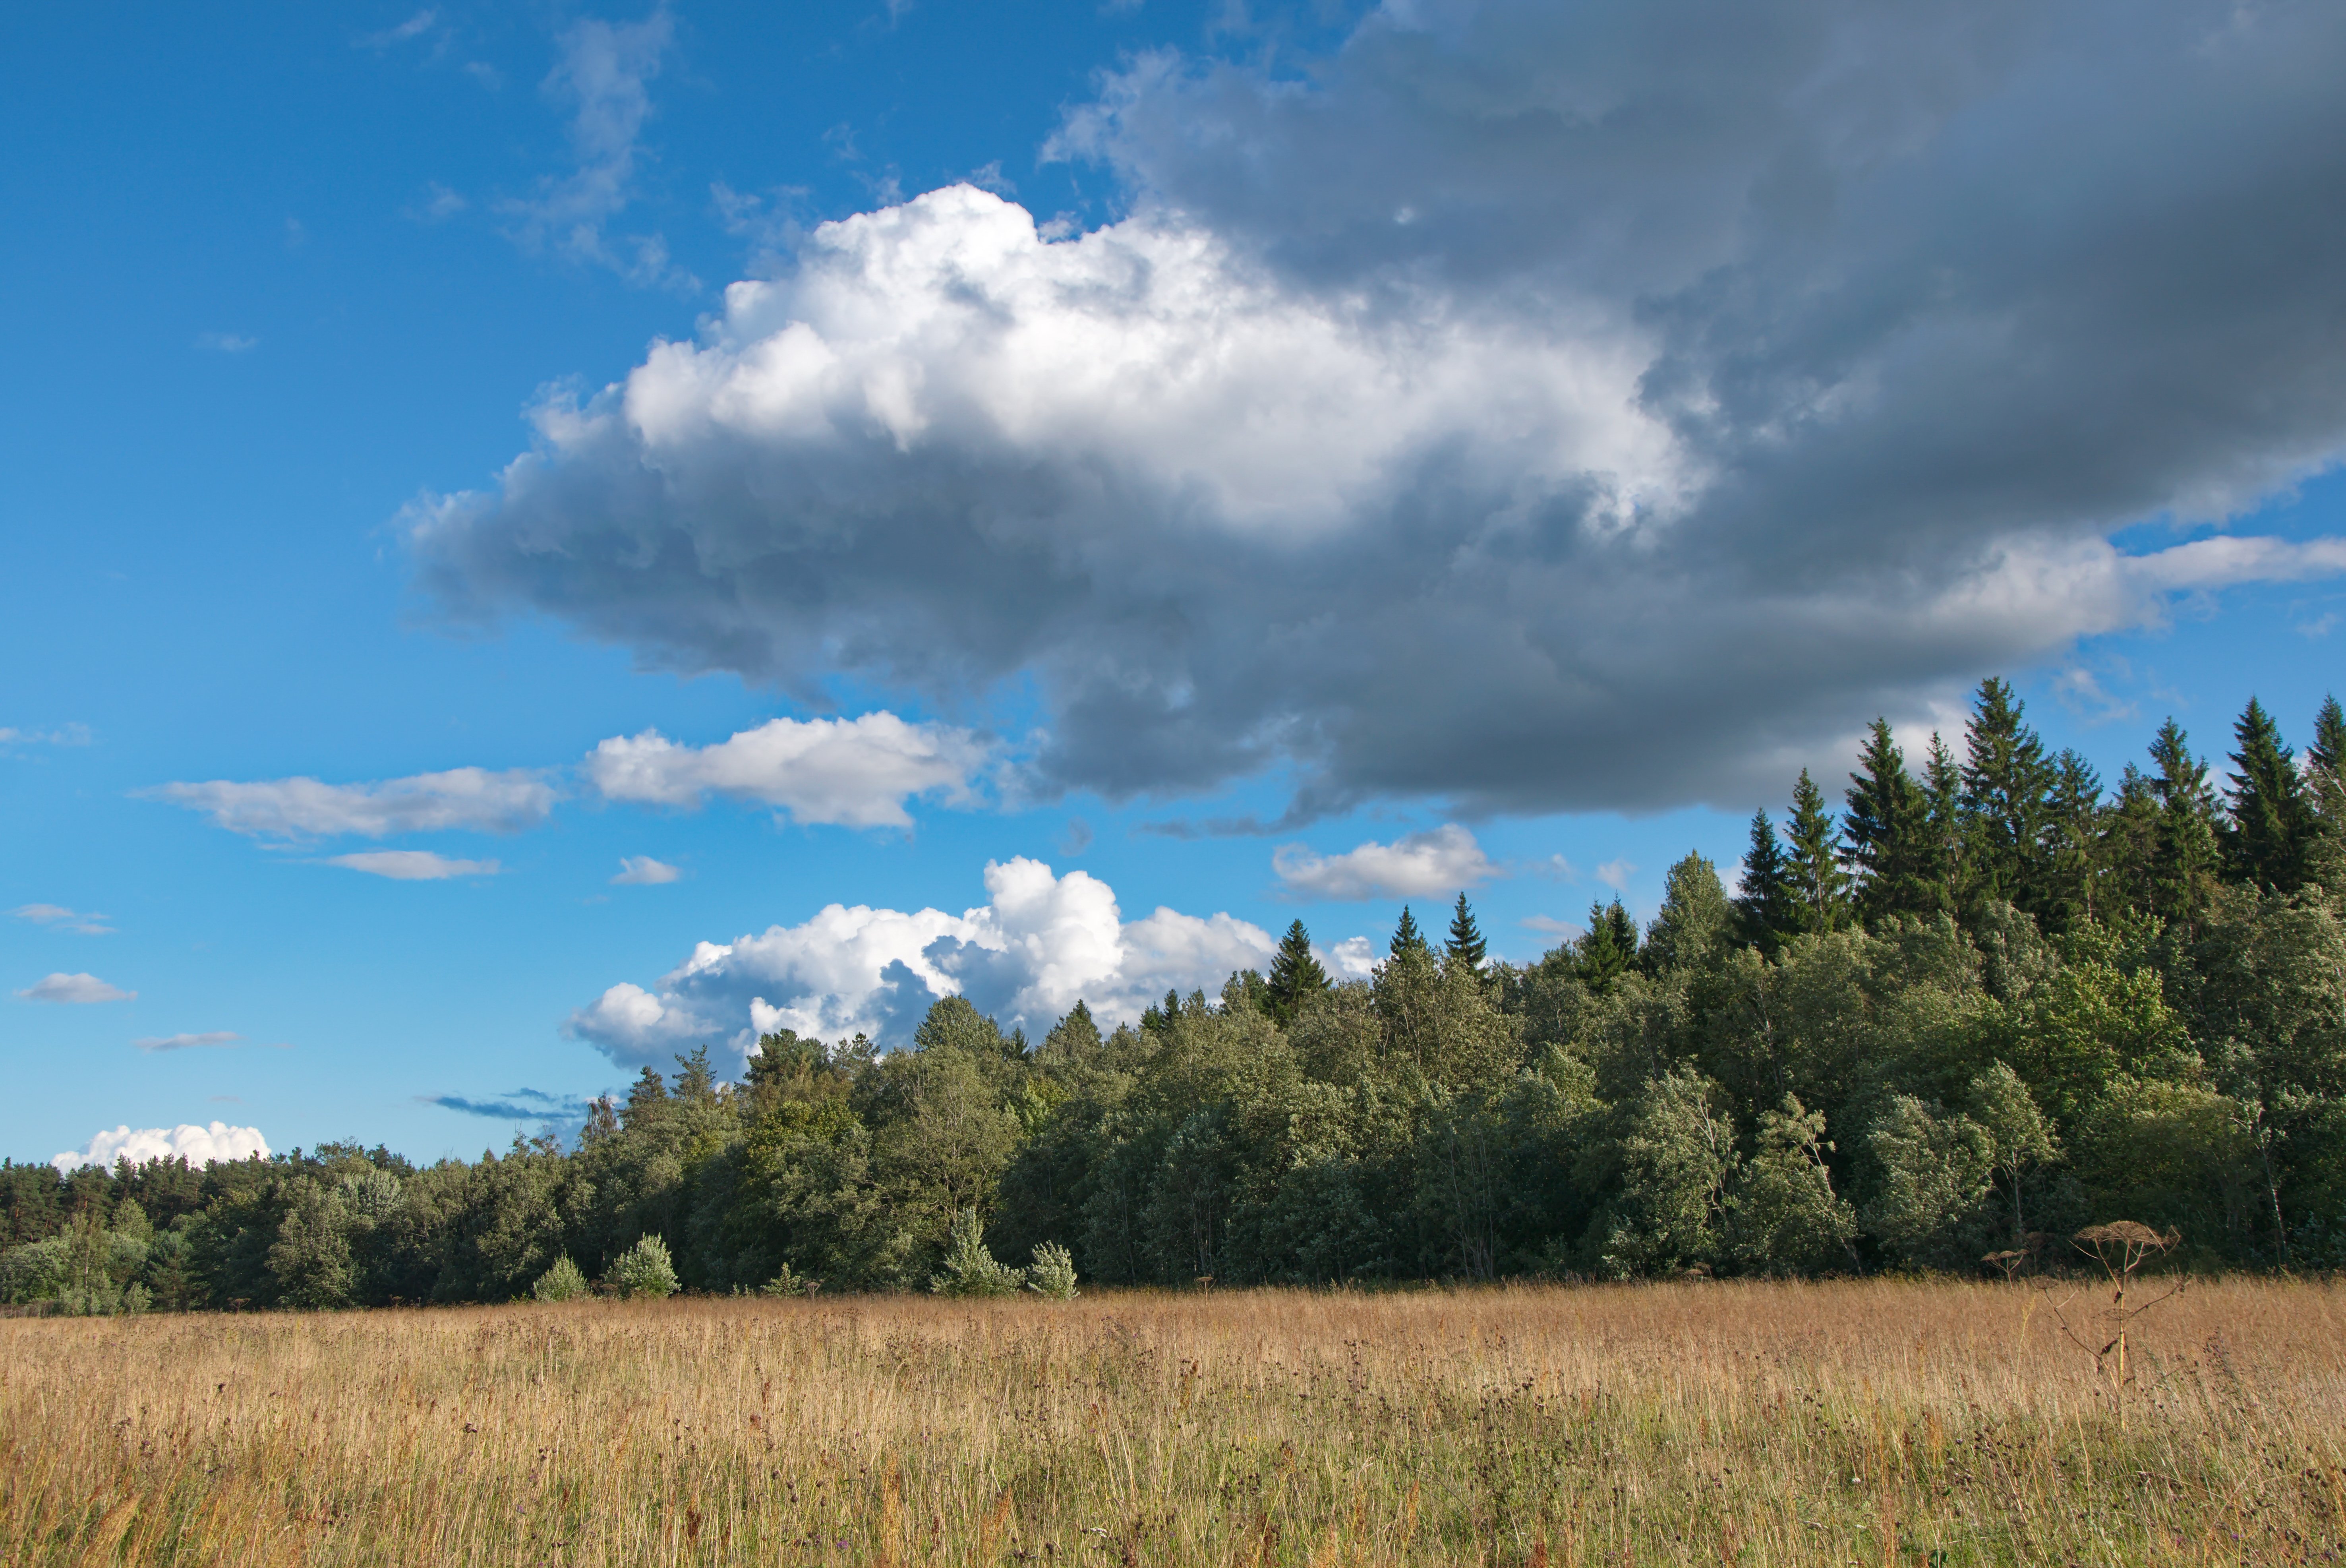
{"label": "huge dark grey cloud with a bright white sunlit top", "polygon": [[535,606],[802,695],[1049,707],[1044,786],[1297,815],[1738,803],[1877,709],[2334,573],[2222,519],[2346,444],[2323,5],[1386,5],[1138,61],[1060,150],[823,225],[418,512]]}

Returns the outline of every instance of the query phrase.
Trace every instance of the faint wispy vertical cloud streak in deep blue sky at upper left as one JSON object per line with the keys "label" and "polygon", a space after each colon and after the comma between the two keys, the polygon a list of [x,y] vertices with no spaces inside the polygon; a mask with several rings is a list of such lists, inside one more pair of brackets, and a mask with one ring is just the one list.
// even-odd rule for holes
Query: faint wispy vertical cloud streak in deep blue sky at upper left
{"label": "faint wispy vertical cloud streak in deep blue sky at upper left", "polygon": [[561,59],[544,92],[570,108],[575,169],[542,181],[537,195],[502,202],[526,251],[554,251],[610,268],[631,284],[697,291],[699,279],[669,261],[659,235],[610,235],[605,225],[636,200],[636,155],[652,117],[652,77],[676,38],[666,7],[633,23],[577,21],[561,35]]}

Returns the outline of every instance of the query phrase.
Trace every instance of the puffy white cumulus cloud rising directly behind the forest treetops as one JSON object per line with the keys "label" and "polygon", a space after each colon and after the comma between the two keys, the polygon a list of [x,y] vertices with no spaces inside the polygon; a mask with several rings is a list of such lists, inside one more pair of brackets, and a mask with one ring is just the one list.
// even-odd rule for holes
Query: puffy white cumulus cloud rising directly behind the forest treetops
{"label": "puffy white cumulus cloud rising directly behind the forest treetops", "polygon": [[1028,1033],[1082,998],[1112,1026],[1166,991],[1211,993],[1232,969],[1260,969],[1276,946],[1227,913],[1159,906],[1124,920],[1107,883],[1023,857],[990,861],[985,892],[960,915],[830,904],[802,925],[701,941],[657,988],[610,986],[565,1030],[612,1061],[657,1063],[699,1042],[748,1049],[774,1028],[901,1045],[943,995],[969,995]]}

